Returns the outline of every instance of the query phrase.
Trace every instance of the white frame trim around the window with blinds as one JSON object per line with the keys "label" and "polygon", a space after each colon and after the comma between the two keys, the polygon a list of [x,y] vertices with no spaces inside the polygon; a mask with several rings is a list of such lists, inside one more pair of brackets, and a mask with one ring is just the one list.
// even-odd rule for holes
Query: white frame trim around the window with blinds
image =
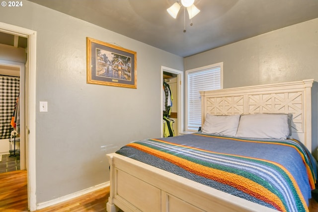
{"label": "white frame trim around the window with blinds", "polygon": [[189,111],[189,105],[188,105],[188,75],[189,73],[192,72],[197,72],[197,71],[206,71],[208,69],[214,69],[216,67],[220,67],[220,89],[223,89],[223,62],[204,66],[204,67],[199,67],[195,69],[190,69],[185,71],[185,131],[186,132],[196,132],[197,130],[189,129],[188,128],[188,111]]}

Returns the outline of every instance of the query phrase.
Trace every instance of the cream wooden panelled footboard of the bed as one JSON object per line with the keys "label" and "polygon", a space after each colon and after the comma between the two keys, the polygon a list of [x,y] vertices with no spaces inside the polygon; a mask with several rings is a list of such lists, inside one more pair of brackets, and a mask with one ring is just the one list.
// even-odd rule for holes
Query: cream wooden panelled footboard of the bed
{"label": "cream wooden panelled footboard of the bed", "polygon": [[111,153],[107,212],[275,212],[125,156]]}

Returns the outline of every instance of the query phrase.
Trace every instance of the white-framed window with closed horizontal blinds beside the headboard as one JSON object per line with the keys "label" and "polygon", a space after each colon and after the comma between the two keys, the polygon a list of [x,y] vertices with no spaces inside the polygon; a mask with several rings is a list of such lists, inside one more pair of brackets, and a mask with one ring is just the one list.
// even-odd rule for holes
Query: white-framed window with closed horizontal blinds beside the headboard
{"label": "white-framed window with closed horizontal blinds beside the headboard", "polygon": [[223,63],[186,71],[186,131],[201,126],[199,91],[223,88]]}

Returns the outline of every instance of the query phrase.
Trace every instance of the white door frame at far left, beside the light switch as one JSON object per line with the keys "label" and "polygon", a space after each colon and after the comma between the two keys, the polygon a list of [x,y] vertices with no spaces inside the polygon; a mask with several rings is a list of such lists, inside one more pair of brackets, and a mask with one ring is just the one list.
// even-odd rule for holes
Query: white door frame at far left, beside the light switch
{"label": "white door frame at far left, beside the light switch", "polygon": [[35,94],[36,94],[36,32],[26,28],[0,22],[0,32],[27,39],[27,59],[25,63],[25,99],[24,99],[24,141],[25,164],[27,169],[28,208],[36,210],[36,179],[35,179]]}

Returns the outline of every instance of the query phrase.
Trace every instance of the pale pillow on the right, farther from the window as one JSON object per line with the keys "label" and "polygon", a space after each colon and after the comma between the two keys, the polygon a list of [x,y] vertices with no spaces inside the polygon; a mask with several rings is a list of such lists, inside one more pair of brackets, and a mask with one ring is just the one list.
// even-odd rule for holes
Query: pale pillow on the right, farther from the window
{"label": "pale pillow on the right, farther from the window", "polygon": [[286,139],[289,136],[288,115],[243,115],[240,117],[236,136],[258,139]]}

